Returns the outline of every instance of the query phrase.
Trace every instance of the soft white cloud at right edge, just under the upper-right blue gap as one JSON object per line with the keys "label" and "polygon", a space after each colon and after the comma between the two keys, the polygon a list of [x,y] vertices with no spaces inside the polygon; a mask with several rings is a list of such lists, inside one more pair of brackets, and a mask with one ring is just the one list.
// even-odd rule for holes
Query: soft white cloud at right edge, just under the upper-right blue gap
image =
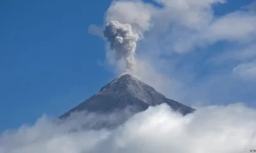
{"label": "soft white cloud at right edge, just under the upper-right blue gap", "polygon": [[205,31],[204,38],[209,41],[238,41],[248,42],[255,40],[256,13],[250,11],[236,11],[214,19]]}

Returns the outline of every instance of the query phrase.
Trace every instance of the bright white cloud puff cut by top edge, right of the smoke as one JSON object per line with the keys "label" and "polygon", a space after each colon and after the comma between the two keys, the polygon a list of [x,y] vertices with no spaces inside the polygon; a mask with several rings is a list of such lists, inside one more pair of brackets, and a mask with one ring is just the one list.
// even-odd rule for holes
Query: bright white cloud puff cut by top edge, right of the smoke
{"label": "bright white cloud puff cut by top edge, right of the smoke", "polygon": [[158,12],[157,17],[159,17],[160,20],[165,19],[168,21],[168,26],[175,24],[196,30],[201,29],[211,22],[213,18],[212,4],[225,3],[225,1],[222,0],[156,0],[156,2],[163,5],[163,10]]}

